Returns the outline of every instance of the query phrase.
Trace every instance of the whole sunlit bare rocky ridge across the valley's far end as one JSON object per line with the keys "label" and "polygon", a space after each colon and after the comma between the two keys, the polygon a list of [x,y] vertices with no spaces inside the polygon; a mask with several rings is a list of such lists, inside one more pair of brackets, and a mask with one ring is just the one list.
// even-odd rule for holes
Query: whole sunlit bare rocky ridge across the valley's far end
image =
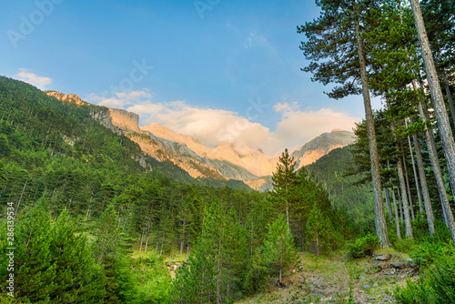
{"label": "whole sunlit bare rocky ridge across the valley's far end", "polygon": [[[55,91],[46,93],[77,106],[89,105],[75,94]],[[130,137],[150,157],[172,162],[186,170],[191,177],[237,179],[259,191],[272,188],[271,175],[276,169],[278,157],[268,157],[261,150],[239,154],[229,144],[207,147],[194,137],[178,134],[157,123],[139,128],[139,116],[126,110],[99,107],[91,115],[117,134]],[[294,151],[292,156],[296,157],[297,167],[303,167],[325,156],[334,148],[349,145],[353,137],[352,132],[335,129],[311,140]]]}

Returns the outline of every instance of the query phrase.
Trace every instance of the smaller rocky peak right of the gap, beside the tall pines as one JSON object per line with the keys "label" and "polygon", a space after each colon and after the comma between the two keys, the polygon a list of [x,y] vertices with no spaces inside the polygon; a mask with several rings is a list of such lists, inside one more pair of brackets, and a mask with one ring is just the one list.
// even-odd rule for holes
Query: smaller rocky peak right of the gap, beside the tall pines
{"label": "smaller rocky peak right of the gap, beside the tall pines", "polygon": [[330,133],[324,133],[309,141],[303,147],[295,150],[292,156],[296,158],[296,167],[300,168],[314,163],[337,147],[348,146],[353,141],[353,132],[334,129]]}

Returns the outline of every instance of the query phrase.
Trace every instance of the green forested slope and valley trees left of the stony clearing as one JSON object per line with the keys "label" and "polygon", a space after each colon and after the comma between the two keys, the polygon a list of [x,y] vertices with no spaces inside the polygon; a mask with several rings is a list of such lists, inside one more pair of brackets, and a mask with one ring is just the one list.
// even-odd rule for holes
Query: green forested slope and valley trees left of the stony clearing
{"label": "green forested slope and valley trees left of the stony clearing", "polygon": [[[212,187],[104,127],[104,107],[0,81],[2,231],[13,219],[19,301],[230,301],[281,284],[297,248],[325,254],[356,234],[288,153],[272,193]],[[176,255],[188,260],[171,284],[163,261]]]}

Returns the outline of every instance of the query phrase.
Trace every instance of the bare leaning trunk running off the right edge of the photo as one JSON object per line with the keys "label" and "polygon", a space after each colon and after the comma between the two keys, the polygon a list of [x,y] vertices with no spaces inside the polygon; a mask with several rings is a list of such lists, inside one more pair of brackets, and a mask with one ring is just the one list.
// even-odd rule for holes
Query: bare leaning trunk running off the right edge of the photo
{"label": "bare leaning trunk running off the right edge of the photo", "polygon": [[430,42],[428,40],[427,31],[423,22],[419,1],[410,0],[410,5],[419,35],[421,56],[423,58],[425,71],[427,72],[431,100],[433,101],[436,120],[440,131],[440,139],[442,141],[444,156],[446,157],[447,167],[449,169],[450,186],[453,192],[455,189],[455,141],[453,140],[449,115],[447,114],[444,97],[442,96],[442,91],[440,89],[440,82],[434,65]]}

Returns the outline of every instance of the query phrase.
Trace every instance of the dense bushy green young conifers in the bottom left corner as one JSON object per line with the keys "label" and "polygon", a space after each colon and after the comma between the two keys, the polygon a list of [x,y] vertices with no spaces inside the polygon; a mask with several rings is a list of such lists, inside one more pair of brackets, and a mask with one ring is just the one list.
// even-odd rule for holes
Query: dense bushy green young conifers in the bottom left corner
{"label": "dense bushy green young conifers in the bottom left corner", "polygon": [[[43,198],[15,226],[15,297],[33,303],[99,303],[104,296],[102,278],[86,238],[64,210],[53,222]],[[5,236],[5,226],[2,235]],[[6,238],[5,238],[6,239]],[[6,254],[9,246],[2,243]],[[1,262],[5,278],[6,260]],[[3,283],[5,285],[5,283]]]}

